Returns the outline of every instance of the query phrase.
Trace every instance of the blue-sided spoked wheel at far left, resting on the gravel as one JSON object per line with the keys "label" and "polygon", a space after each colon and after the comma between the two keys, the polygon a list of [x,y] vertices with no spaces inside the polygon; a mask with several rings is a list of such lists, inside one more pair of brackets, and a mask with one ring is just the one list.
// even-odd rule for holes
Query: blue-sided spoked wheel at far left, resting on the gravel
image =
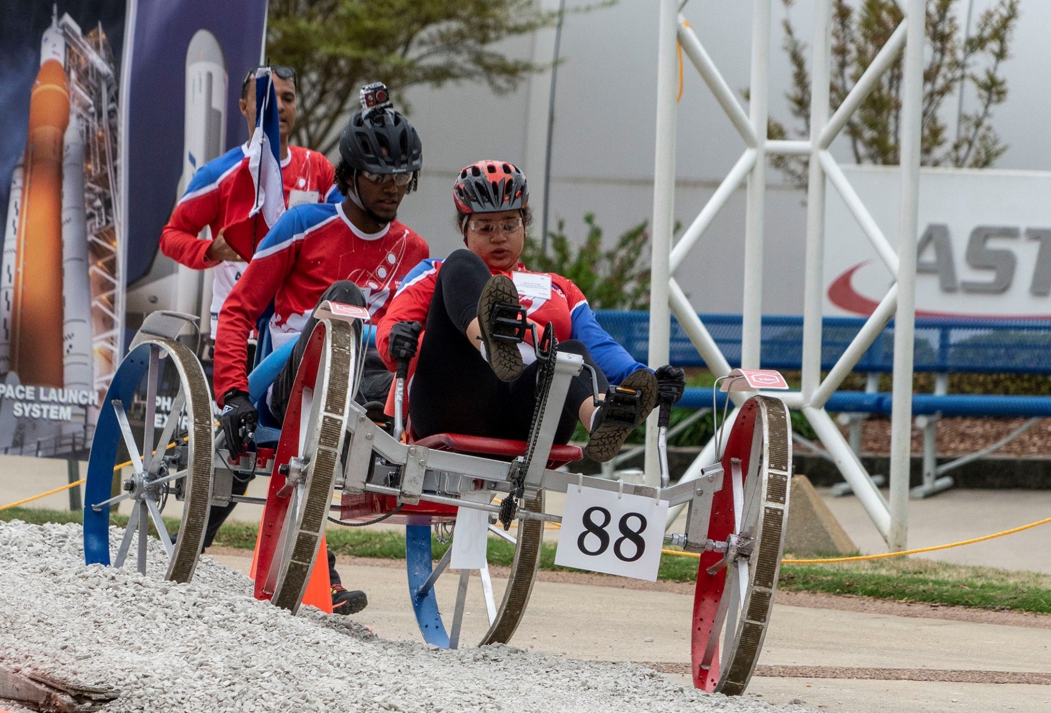
{"label": "blue-sided spoked wheel at far left, resting on the gravel", "polygon": [[[141,419],[141,428],[132,428],[129,414],[137,426]],[[168,339],[141,341],[114,376],[91,441],[84,498],[86,563],[109,565],[109,507],[131,500],[114,564],[124,564],[137,539],[137,568],[146,572],[152,522],[167,552],[165,578],[189,582],[208,522],[212,443],[211,396],[193,353]],[[130,465],[118,469],[125,458],[121,445]],[[120,495],[114,496],[118,490]],[[169,497],[183,502],[174,542],[161,519]]]}

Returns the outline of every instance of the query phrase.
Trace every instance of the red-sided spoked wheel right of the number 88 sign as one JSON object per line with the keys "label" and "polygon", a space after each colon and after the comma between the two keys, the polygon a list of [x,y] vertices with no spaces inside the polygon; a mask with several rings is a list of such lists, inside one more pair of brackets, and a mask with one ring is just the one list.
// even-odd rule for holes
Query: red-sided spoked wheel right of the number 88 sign
{"label": "red-sided spoked wheel right of the number 88 sign", "polygon": [[694,596],[693,675],[697,688],[744,692],[763,647],[788,522],[791,431],[778,399],[741,407],[723,455],[708,538],[724,552],[701,555]]}

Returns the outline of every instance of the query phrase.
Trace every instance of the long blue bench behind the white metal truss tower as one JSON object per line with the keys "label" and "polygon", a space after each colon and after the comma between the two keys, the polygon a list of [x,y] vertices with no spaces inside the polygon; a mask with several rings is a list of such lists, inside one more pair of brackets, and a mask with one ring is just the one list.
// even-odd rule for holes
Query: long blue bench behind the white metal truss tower
{"label": "long blue bench behind the white metal truss tower", "polygon": [[[596,316],[602,328],[623,344],[635,359],[646,362],[648,312],[598,310]],[[730,366],[740,366],[741,316],[707,314],[701,315],[701,319]],[[836,364],[864,323],[865,320],[860,317],[825,317],[822,320],[822,370],[829,370]],[[925,417],[918,419],[924,426],[925,485],[914,491],[914,495],[922,497],[944,489],[935,487],[935,478],[954,466],[954,463],[943,466],[934,463],[933,438],[940,417],[1024,416],[1035,419],[1051,416],[1051,396],[947,393],[948,377],[952,373],[1051,375],[1051,320],[923,317],[915,320],[914,340],[913,371],[934,375],[933,394],[912,396],[913,415]],[[892,395],[878,391],[878,385],[880,374],[893,371],[893,344],[894,329],[891,321],[853,368],[854,372],[868,375],[866,391],[839,391],[825,404],[829,413],[851,415],[848,418],[851,424],[851,444],[856,450],[860,442],[861,420],[852,415],[891,412]],[[760,354],[764,369],[800,370],[803,357],[803,318],[764,316]],[[706,366],[674,317],[668,361],[678,366]],[[721,402],[720,398],[720,405]],[[688,408],[710,407],[712,391],[702,387],[687,389],[679,405]],[[1008,440],[998,443],[997,447],[1005,445]],[[983,455],[989,452],[986,449]],[[966,458],[973,460],[973,457]],[[947,487],[951,485],[951,479],[942,479],[941,483]]]}

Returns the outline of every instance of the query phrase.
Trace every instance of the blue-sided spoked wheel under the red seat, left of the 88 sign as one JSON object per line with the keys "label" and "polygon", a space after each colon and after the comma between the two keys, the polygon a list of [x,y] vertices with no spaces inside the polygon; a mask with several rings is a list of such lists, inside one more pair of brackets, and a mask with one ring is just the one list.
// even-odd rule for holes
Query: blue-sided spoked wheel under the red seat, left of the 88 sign
{"label": "blue-sided spoked wheel under the red seat, left of the 88 sign", "polygon": [[[542,512],[543,491],[540,490],[536,497],[527,500],[523,507],[532,512]],[[498,526],[489,528],[491,532],[515,545],[515,557],[502,595],[499,593],[501,582],[492,580],[488,567],[460,570],[455,575],[455,591],[451,587],[447,590],[441,578],[452,559],[452,547],[440,561],[434,563],[431,558],[431,528],[427,525],[406,527],[409,596],[419,631],[428,644],[442,649],[456,649],[466,641],[478,642],[478,646],[507,644],[511,641],[526,614],[526,606],[540,564],[540,545],[543,540],[541,521],[519,518],[517,523],[517,531],[513,536]],[[454,531],[453,540],[455,539]],[[480,587],[471,586],[473,571],[478,572]],[[448,629],[441,615],[439,600],[452,609],[453,616]],[[449,608],[446,608],[446,614],[448,613]]]}

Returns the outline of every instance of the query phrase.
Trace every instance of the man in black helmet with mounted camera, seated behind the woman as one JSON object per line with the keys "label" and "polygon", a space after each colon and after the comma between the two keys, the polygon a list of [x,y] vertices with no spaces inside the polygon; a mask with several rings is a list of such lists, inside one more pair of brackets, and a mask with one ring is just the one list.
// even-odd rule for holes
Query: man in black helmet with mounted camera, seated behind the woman
{"label": "man in black helmet with mounted camera, seated behind the woman", "polygon": [[[274,349],[296,340],[267,396],[280,421],[316,323],[314,308],[326,299],[366,307],[376,323],[401,278],[430,254],[427,243],[395,219],[401,198],[416,188],[423,166],[419,135],[391,108],[382,84],[362,89],[362,105],[339,137],[335,181],[346,200],[285,212],[260,243],[220,312],[213,380],[231,453],[244,450],[244,435],[257,420],[248,397],[246,341],[267,307],[273,302],[269,330]],[[391,378],[370,348],[358,400],[385,398]],[[333,564],[329,553],[333,609],[359,611],[367,603],[364,592],[343,589]]]}

